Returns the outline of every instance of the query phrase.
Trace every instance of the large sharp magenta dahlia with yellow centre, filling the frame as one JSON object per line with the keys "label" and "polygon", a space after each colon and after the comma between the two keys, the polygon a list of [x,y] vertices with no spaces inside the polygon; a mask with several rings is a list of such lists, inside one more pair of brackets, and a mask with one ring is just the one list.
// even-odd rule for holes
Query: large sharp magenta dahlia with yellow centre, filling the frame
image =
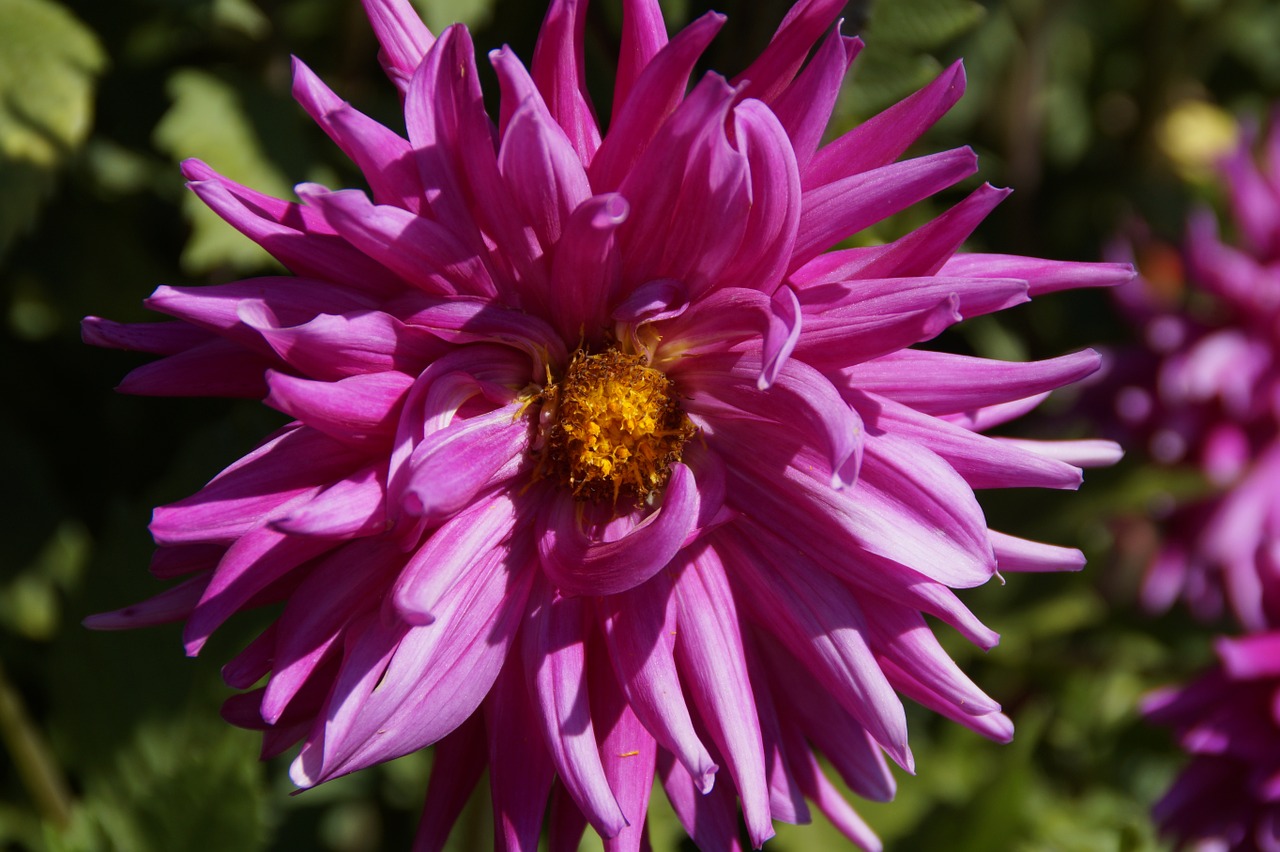
{"label": "large sharp magenta dahlia with yellow centre, filling the frame", "polygon": [[988,530],[974,489],[1074,489],[1116,453],[979,432],[1094,353],[910,347],[1129,267],[956,253],[1006,194],[989,185],[829,251],[977,168],[968,148],[899,161],[959,65],[822,145],[860,47],[828,32],[842,0],[797,4],[740,77],[687,92],[723,18],[668,41],[657,0],[625,0],[607,133],[585,0],[553,0],[527,69],[490,54],[497,116],[465,27],[365,5],[407,138],[301,63],[294,93],[370,192],[280,201],[187,162],[293,275],[161,287],[172,322],[86,321],[91,343],[164,356],[125,391],[291,418],[156,509],[152,571],[178,585],[90,624],[183,619],[197,654],[280,605],[224,668],[248,690],[225,716],[266,755],[301,743],[301,787],[435,743],[422,849],[486,766],[502,848],[536,848],[549,798],[556,844],[590,824],[643,848],[655,777],[705,849],[737,848],[739,803],[759,847],[810,802],[876,848],[818,755],[890,798],[884,755],[913,766],[900,695],[1007,739],[924,615],[989,647],[954,588],[1082,564]]}

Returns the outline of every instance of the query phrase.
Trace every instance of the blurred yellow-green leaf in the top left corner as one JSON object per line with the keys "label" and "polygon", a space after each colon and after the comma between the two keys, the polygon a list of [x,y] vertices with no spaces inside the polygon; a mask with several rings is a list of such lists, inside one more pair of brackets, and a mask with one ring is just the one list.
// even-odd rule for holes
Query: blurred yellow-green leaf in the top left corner
{"label": "blurred yellow-green leaf in the top left corner", "polygon": [[0,0],[0,257],[88,136],[105,55],[52,0]]}

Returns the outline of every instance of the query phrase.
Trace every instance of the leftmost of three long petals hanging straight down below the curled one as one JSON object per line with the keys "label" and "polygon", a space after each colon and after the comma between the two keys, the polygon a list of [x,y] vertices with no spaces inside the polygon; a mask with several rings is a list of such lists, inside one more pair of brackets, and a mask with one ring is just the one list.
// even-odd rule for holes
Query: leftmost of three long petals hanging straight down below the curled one
{"label": "leftmost of three long petals hanging straight down below the curled one", "polygon": [[627,819],[604,775],[584,688],[584,606],[582,599],[561,597],[538,582],[521,631],[525,677],[561,783],[600,837],[614,837]]}

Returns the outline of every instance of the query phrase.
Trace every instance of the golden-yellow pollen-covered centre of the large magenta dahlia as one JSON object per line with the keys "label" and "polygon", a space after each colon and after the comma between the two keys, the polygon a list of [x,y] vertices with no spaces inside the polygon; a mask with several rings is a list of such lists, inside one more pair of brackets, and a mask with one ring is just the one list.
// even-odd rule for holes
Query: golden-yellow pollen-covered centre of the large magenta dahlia
{"label": "golden-yellow pollen-covered centre of the large magenta dahlia", "polygon": [[573,353],[541,402],[535,476],[558,478],[580,500],[644,503],[667,484],[696,431],[671,379],[616,348]]}

